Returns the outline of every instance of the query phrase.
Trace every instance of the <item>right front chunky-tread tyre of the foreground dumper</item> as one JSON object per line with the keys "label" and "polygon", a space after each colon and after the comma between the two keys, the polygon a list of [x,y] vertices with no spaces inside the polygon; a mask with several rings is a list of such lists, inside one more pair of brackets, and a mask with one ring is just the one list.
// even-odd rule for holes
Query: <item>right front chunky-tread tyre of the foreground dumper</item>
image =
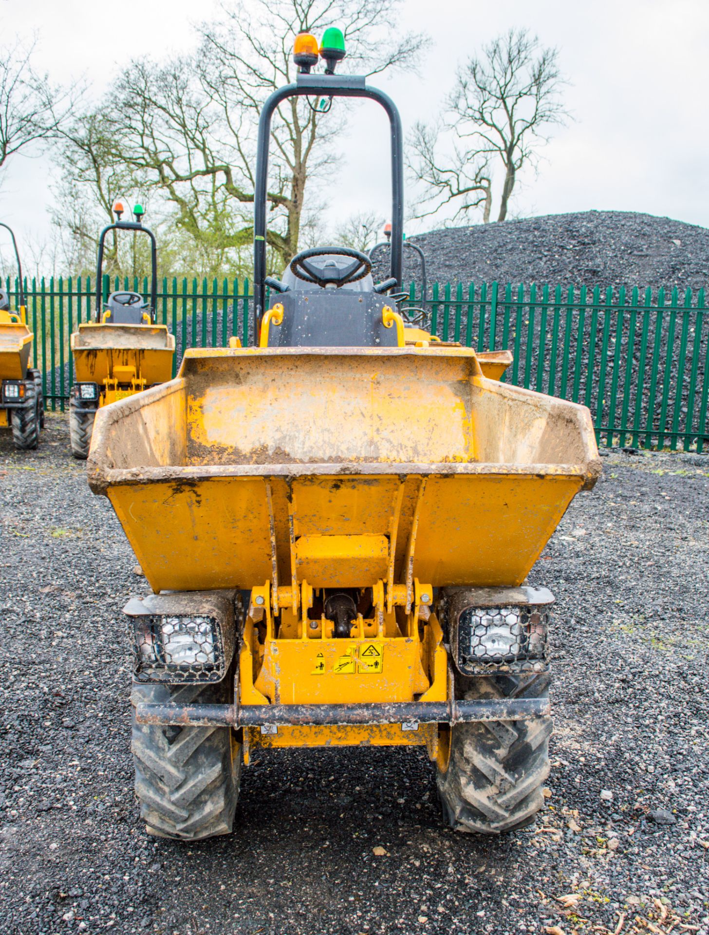
{"label": "right front chunky-tread tyre of the foreground dumper", "polygon": [[[471,678],[464,680],[460,694],[470,699],[547,698],[549,681],[548,672]],[[443,816],[450,826],[472,834],[499,834],[532,822],[543,805],[551,734],[548,715],[453,726],[447,768],[438,770]]]}

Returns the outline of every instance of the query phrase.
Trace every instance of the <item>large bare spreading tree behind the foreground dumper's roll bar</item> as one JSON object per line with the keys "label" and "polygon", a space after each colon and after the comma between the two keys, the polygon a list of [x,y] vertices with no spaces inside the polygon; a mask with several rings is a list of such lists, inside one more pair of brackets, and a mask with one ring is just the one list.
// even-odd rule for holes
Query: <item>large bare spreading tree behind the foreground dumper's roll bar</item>
{"label": "large bare spreading tree behind the foreground dumper's roll bar", "polygon": [[[407,67],[422,38],[399,35],[399,5],[241,0],[224,6],[222,21],[201,27],[195,55],[126,69],[107,108],[123,159],[166,196],[178,225],[197,242],[237,250],[251,244],[257,113],[268,94],[295,79],[294,36],[341,25],[351,67],[368,74]],[[297,252],[306,187],[326,179],[337,159],[345,107],[320,105],[292,99],[274,116],[268,187],[274,264]]]}

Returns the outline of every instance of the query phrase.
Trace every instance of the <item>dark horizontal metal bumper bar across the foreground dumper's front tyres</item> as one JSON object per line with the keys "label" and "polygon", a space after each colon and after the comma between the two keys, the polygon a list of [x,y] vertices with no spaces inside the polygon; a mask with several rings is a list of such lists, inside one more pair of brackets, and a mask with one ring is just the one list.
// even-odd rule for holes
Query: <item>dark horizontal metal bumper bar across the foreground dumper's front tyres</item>
{"label": "dark horizontal metal bumper bar across the foreground dumper's front tyres", "polygon": [[550,713],[548,698],[480,698],[476,701],[397,701],[377,704],[145,704],[138,724],[160,726],[347,726],[460,724],[523,721]]}

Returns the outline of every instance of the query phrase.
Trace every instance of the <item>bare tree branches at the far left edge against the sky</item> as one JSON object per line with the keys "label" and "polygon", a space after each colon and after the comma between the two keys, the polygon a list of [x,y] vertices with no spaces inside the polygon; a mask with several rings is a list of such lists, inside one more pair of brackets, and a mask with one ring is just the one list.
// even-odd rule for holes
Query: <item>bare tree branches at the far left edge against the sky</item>
{"label": "bare tree branches at the far left edge against the sky", "polygon": [[58,91],[32,65],[36,42],[18,39],[0,58],[0,167],[15,155],[51,137],[70,106],[72,90]]}

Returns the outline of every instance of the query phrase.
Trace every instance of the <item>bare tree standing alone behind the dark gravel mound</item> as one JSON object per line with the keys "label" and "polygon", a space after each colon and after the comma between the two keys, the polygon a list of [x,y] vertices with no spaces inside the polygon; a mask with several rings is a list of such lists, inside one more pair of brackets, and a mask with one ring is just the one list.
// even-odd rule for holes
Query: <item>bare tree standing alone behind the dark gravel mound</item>
{"label": "bare tree standing alone behind the dark gravel mound", "polygon": [[421,124],[412,139],[412,173],[426,186],[424,206],[433,206],[427,213],[451,202],[456,214],[482,205],[486,223],[491,170],[501,164],[498,221],[504,221],[518,173],[536,164],[550,128],[569,116],[561,99],[565,83],[558,51],[541,47],[524,29],[499,36],[460,67],[447,100],[445,125],[453,137],[448,155],[436,151],[437,135]]}

